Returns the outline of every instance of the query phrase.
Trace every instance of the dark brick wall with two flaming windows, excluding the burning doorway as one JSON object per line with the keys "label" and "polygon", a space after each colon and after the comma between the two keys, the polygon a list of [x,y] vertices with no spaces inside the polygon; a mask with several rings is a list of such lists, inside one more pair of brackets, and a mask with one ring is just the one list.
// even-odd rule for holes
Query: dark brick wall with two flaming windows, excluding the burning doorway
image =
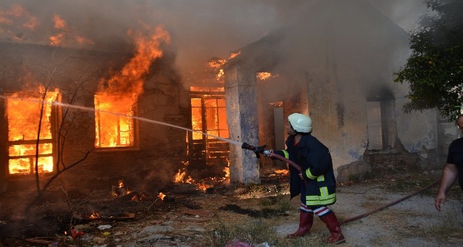
{"label": "dark brick wall with two flaming windows, excluding the burning doorway", "polygon": [[[180,104],[181,93],[188,92],[177,84],[169,54],[155,61],[161,56],[142,52],[134,56],[125,51],[54,51],[54,47],[12,43],[3,43],[1,50],[8,57],[2,60],[1,75],[3,181],[33,180],[36,157],[38,172],[45,178],[82,161],[74,172],[63,173],[69,183],[146,177],[145,169],[151,168],[160,172],[160,181],[173,181],[176,169],[169,174],[165,168],[188,158],[185,131],[153,128],[153,123],[133,118],[188,126],[188,102]],[[48,62],[52,53],[61,64]],[[27,54],[32,62],[18,54]],[[172,73],[162,76],[156,72],[159,68]],[[54,74],[47,81],[44,74],[50,70]]]}

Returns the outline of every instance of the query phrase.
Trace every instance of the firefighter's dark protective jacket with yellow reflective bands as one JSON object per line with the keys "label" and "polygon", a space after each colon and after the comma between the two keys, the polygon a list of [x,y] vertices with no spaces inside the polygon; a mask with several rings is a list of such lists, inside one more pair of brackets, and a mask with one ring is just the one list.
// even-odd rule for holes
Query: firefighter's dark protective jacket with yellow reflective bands
{"label": "firefighter's dark protective jacket with yellow reflective bands", "polygon": [[310,134],[303,135],[294,146],[294,135],[286,140],[286,150],[275,151],[275,154],[300,165],[303,177],[308,185],[299,177],[298,170],[289,166],[289,192],[291,199],[301,195],[301,202],[307,206],[331,205],[336,202],[336,180],[333,172],[333,161],[328,148]]}

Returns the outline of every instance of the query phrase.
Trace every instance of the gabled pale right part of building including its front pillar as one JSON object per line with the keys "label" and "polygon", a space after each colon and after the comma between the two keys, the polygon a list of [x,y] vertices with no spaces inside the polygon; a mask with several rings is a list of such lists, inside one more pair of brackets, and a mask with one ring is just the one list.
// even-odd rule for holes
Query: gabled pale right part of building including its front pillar
{"label": "gabled pale right part of building including its front pillar", "polygon": [[[283,149],[283,122],[301,112],[331,150],[338,181],[439,169],[449,143],[441,133],[453,126],[435,110],[404,114],[408,87],[393,83],[408,38],[365,1],[318,1],[301,10],[227,63],[230,138]],[[261,73],[278,77],[260,80]],[[232,147],[231,179],[259,182],[259,167],[268,162]]]}

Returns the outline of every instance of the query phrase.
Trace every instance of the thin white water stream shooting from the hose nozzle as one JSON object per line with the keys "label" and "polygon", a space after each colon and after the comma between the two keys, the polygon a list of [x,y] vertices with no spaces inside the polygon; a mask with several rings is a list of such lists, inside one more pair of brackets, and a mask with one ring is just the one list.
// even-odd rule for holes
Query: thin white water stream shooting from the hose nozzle
{"label": "thin white water stream shooting from the hose nozzle", "polygon": [[17,98],[17,97],[6,97],[6,96],[0,96],[0,98],[5,98],[7,100],[21,100],[21,101],[37,102],[37,103],[42,103],[42,104],[46,104],[46,105],[57,105],[57,106],[61,106],[61,107],[68,107],[68,108],[73,108],[73,109],[78,109],[78,110],[84,110],[86,112],[104,112],[106,114],[112,114],[112,115],[116,115],[116,116],[119,116],[119,117],[130,117],[131,119],[137,119],[139,121],[145,121],[145,122],[148,122],[148,123],[156,123],[156,124],[160,124],[160,125],[163,125],[163,126],[179,128],[181,130],[187,130],[187,131],[190,131],[192,133],[201,133],[202,135],[213,137],[215,139],[222,140],[224,142],[229,142],[230,144],[234,144],[234,145],[237,145],[239,147],[241,147],[242,144],[243,144],[241,142],[237,142],[237,141],[234,141],[234,140],[229,140],[227,138],[218,137],[218,136],[215,136],[215,135],[210,135],[210,134],[207,134],[207,133],[203,133],[201,131],[192,130],[190,128],[183,128],[181,126],[176,126],[174,124],[165,123],[165,122],[162,122],[162,121],[155,121],[155,120],[146,119],[146,118],[143,118],[143,117],[129,116],[129,115],[126,115],[126,114],[121,114],[121,113],[116,113],[116,112],[108,112],[108,111],[105,111],[105,110],[96,110],[95,108],[92,108],[92,107],[84,107],[84,106],[80,106],[80,105],[70,105],[70,104],[66,104],[66,103],[60,103],[58,101],[50,102],[50,101],[44,101],[44,100],[33,100],[33,99],[30,99],[30,98]]}

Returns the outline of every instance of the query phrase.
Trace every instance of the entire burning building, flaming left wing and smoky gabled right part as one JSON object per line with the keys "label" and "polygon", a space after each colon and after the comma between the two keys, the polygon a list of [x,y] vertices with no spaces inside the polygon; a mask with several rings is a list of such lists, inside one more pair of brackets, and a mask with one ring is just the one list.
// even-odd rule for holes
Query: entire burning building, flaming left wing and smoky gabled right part
{"label": "entire burning building, flaming left wing and smoky gabled right part", "polygon": [[[188,87],[161,27],[103,44],[70,38],[59,15],[47,44],[18,31],[0,43],[0,181],[33,184],[36,174],[66,170],[61,181],[85,186],[190,176],[258,183],[263,168],[284,164],[215,137],[284,149],[292,112],[312,117],[340,181],[439,164],[445,123],[434,110],[403,114],[407,85],[392,82],[409,52],[407,33],[365,1],[305,8],[228,60],[205,61]],[[28,16],[18,6],[8,13],[3,20]],[[70,40],[77,45],[63,45]]]}

